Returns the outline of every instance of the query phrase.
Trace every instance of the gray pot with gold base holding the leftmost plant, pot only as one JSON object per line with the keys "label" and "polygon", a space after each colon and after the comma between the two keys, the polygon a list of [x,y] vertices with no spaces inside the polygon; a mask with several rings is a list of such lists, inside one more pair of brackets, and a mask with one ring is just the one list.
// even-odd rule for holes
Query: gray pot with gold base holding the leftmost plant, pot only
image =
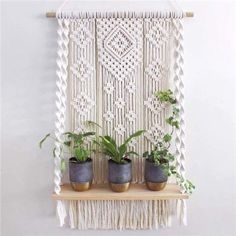
{"label": "gray pot with gold base holding the leftmost plant, pot only", "polygon": [[69,177],[74,190],[88,190],[93,181],[93,161],[78,162],[74,157],[69,159]]}

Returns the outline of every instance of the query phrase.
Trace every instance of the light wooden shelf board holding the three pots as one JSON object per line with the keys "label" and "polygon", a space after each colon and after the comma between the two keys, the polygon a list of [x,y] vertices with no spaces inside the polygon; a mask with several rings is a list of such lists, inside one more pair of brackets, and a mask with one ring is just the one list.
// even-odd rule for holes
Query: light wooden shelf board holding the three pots
{"label": "light wooden shelf board holding the three pots", "polygon": [[132,184],[129,191],[123,193],[112,192],[107,184],[92,185],[85,192],[76,192],[70,184],[65,184],[60,195],[52,194],[54,200],[168,200],[188,197],[188,194],[180,192],[176,184],[167,184],[164,190],[158,192],[149,191],[144,184]]}

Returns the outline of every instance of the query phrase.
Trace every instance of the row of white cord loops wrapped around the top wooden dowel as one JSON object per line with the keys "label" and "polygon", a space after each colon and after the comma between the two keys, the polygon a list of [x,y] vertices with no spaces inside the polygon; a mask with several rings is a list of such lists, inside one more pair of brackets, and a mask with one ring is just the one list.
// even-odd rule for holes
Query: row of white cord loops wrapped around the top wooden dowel
{"label": "row of white cord loops wrapped around the top wooden dowel", "polygon": [[91,18],[173,18],[184,17],[182,11],[153,11],[153,12],[57,12],[57,18],[64,19],[91,19]]}

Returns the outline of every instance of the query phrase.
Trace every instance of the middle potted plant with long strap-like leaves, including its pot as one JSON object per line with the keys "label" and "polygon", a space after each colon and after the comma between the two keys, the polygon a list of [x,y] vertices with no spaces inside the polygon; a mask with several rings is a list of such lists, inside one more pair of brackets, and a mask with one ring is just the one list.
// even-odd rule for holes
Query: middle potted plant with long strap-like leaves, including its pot
{"label": "middle potted plant with long strap-like leaves, including its pot", "polygon": [[128,151],[128,144],[139,137],[144,131],[139,130],[130,135],[123,144],[118,146],[111,136],[99,136],[101,151],[108,160],[108,182],[114,192],[125,192],[129,189],[132,180],[132,162],[130,155],[138,155],[134,151]]}

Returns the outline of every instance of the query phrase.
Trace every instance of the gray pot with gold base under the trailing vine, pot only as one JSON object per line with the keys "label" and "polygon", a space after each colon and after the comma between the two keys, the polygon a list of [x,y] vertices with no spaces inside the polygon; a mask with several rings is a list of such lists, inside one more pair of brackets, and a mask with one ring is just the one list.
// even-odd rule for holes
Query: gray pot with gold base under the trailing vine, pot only
{"label": "gray pot with gold base under the trailing vine, pot only", "polygon": [[155,165],[150,160],[145,162],[145,181],[150,190],[159,191],[166,186],[168,176],[160,166]]}

